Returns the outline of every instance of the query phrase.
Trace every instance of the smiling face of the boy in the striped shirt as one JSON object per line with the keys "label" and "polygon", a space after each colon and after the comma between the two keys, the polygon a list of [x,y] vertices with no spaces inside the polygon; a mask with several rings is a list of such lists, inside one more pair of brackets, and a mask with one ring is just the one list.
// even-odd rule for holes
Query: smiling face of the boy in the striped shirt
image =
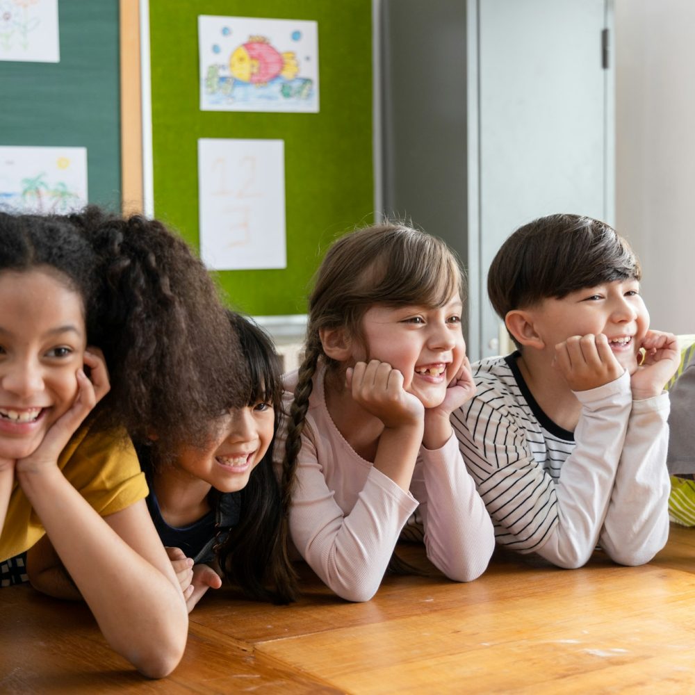
{"label": "smiling face of the boy in the striped shirt", "polygon": [[546,349],[571,336],[605,334],[621,366],[637,369],[639,348],[649,328],[649,313],[635,279],[616,280],[546,299],[528,309]]}

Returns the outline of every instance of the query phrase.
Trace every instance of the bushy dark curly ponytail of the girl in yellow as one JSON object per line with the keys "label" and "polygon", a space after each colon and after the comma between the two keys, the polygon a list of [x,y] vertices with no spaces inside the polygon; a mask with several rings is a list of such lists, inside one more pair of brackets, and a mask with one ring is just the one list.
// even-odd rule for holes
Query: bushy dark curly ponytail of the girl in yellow
{"label": "bushy dark curly ponytail of the girl in yellow", "polygon": [[205,266],[157,220],[88,206],[65,221],[99,279],[88,339],[111,378],[99,425],[154,440],[161,460],[183,442],[204,442],[214,418],[245,404],[248,391],[238,337]]}

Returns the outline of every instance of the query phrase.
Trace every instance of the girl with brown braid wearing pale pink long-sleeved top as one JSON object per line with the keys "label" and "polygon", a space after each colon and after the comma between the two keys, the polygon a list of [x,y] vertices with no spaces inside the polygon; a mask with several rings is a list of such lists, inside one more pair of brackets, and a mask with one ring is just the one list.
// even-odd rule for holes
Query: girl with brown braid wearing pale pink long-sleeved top
{"label": "girl with brown braid wearing pale pink long-sleeved top", "polygon": [[402,531],[452,580],[492,554],[449,424],[475,393],[463,285],[443,242],[400,224],[343,236],[318,270],[304,360],[286,377],[283,488],[293,543],[347,600],[375,594]]}

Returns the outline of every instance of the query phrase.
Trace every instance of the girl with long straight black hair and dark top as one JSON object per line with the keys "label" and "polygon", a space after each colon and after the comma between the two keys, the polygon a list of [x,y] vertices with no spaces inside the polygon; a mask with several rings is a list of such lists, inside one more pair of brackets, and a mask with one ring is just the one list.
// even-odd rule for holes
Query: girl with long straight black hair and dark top
{"label": "girl with long straight black hair and dark top", "polygon": [[[158,438],[138,447],[150,489],[147,506],[188,610],[209,588],[222,585],[220,575],[250,598],[295,598],[272,465],[282,402],[280,361],[270,338],[251,320],[230,311],[229,321],[249,382],[245,406],[218,415],[203,446],[183,444],[171,461],[161,461]],[[236,344],[228,354],[239,359]]]}

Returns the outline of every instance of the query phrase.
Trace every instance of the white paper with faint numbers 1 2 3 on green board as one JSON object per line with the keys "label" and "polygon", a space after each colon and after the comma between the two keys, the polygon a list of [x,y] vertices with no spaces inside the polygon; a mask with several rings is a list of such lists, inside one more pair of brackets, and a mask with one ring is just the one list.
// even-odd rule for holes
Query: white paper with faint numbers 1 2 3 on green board
{"label": "white paper with faint numbers 1 2 3 on green board", "polygon": [[283,140],[198,140],[200,256],[208,268],[286,268]]}

